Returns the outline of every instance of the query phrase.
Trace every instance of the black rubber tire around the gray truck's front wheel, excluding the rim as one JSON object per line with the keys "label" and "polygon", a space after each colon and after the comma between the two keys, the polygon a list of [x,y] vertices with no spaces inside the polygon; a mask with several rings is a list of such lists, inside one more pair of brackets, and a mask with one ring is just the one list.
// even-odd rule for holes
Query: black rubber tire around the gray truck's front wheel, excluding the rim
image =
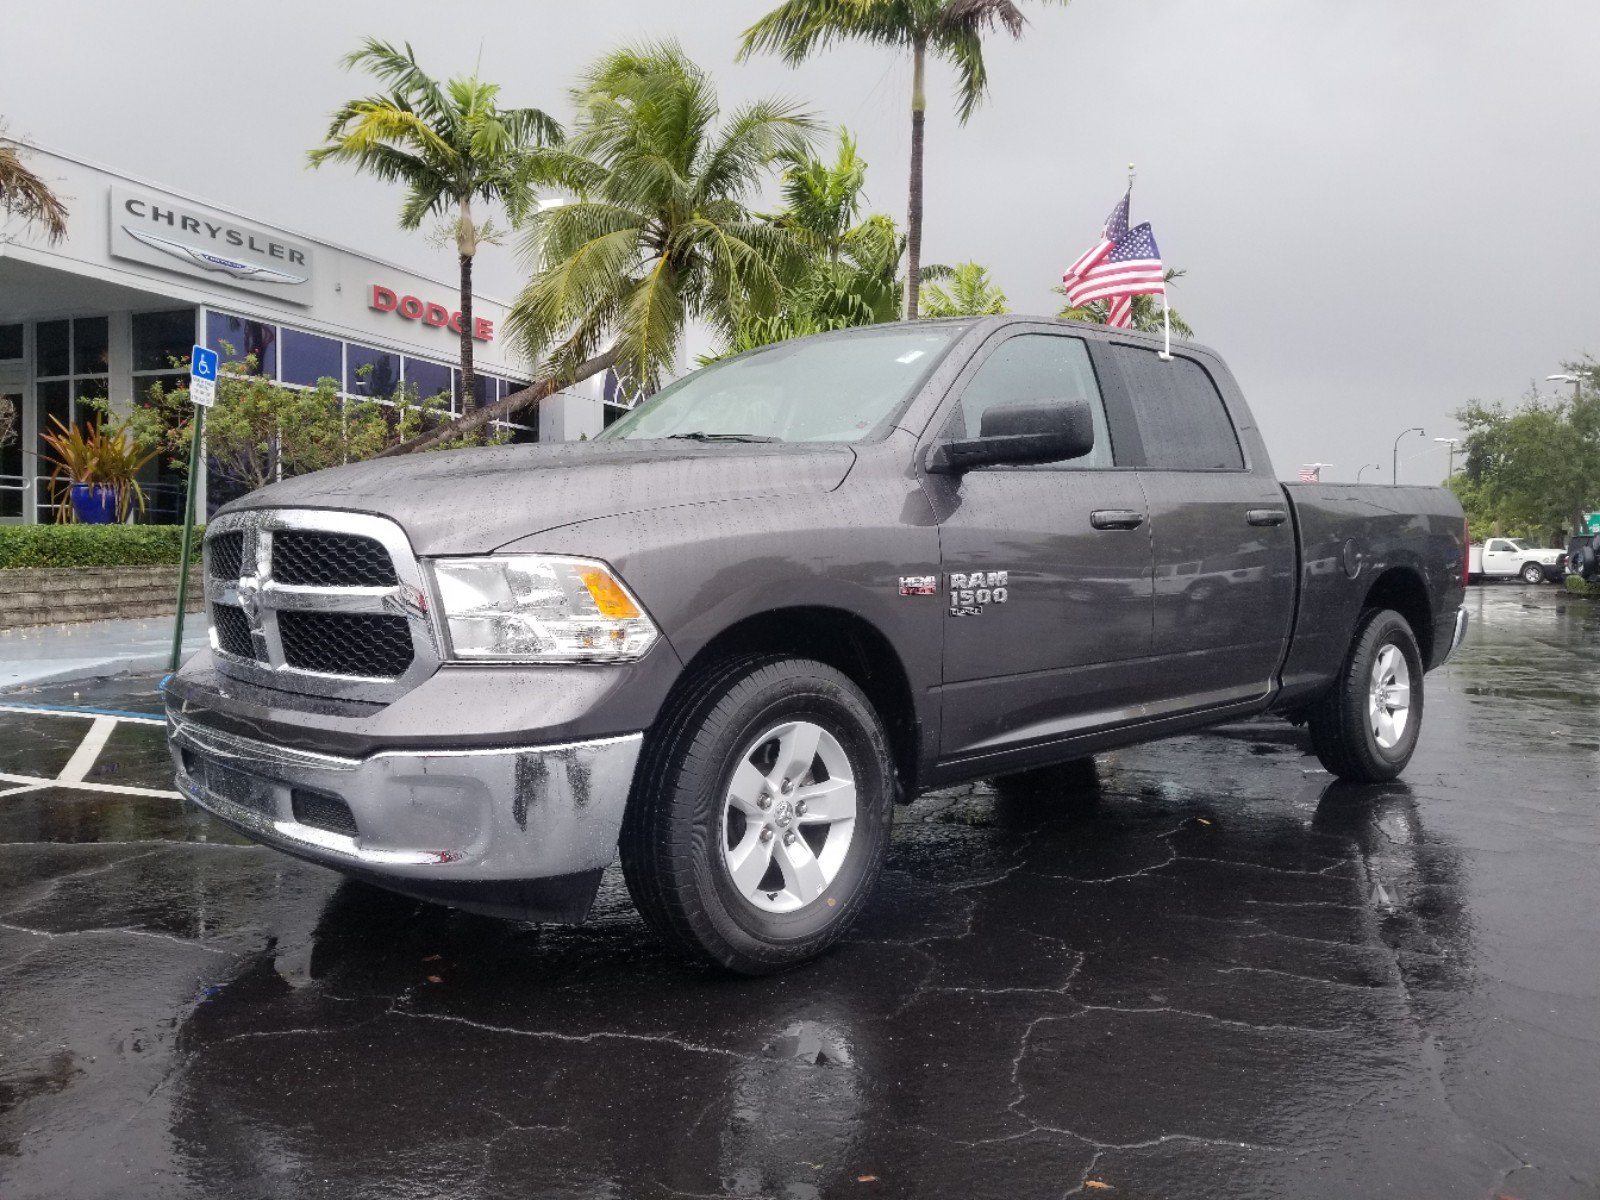
{"label": "black rubber tire around the gray truck's front wheel, excluding the rim", "polygon": [[[723,802],[741,752],[805,718],[834,736],[856,781],[856,824],[829,886],[792,912],[746,899],[723,861]],[[622,821],[622,875],[645,922],[690,957],[741,974],[814,958],[866,906],[888,854],[894,760],[872,704],[811,659],[747,656],[690,680],[646,739]]]}

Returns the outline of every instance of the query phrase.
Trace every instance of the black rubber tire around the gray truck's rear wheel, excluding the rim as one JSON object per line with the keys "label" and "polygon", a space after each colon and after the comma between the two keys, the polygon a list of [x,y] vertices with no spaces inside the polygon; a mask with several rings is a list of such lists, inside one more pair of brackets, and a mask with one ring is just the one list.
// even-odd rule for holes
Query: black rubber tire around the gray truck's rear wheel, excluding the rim
{"label": "black rubber tire around the gray truck's rear wheel, excluding the rim", "polygon": [[[1368,720],[1368,699],[1373,666],[1390,645],[1405,656],[1410,709],[1402,736],[1392,747],[1384,747]],[[1317,758],[1341,779],[1376,784],[1405,770],[1422,728],[1422,654],[1403,616],[1392,608],[1374,608],[1362,616],[1339,675],[1307,710],[1307,725]]]}

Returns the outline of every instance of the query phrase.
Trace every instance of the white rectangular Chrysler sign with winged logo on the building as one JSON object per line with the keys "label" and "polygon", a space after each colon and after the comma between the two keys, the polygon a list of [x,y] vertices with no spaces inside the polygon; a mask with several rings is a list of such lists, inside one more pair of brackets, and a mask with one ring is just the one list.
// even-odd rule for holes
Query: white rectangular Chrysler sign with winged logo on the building
{"label": "white rectangular Chrysler sign with winged logo on the building", "polygon": [[310,304],[304,242],[126,187],[110,189],[112,258]]}

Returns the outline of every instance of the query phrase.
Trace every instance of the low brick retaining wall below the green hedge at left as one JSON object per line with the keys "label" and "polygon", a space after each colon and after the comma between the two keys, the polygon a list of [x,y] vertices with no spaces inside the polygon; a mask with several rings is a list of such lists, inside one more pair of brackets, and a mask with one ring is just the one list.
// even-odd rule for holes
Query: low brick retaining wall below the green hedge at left
{"label": "low brick retaining wall below the green hedge at left", "polygon": [[[190,613],[205,608],[198,563],[189,574]],[[176,566],[50,566],[0,571],[0,629],[62,621],[171,616]]]}

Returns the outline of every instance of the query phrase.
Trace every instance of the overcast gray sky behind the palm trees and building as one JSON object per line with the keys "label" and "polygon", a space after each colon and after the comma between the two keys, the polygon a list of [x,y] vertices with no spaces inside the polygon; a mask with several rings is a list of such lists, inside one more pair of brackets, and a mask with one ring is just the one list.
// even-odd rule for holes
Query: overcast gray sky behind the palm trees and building
{"label": "overcast gray sky behind the palm trees and building", "polygon": [[[277,0],[8,5],[0,115],[77,154],[451,278],[398,232],[394,189],[304,168],[334,106],[368,88],[338,59],[410,40],[434,74],[566,114],[574,69],[677,37],[731,104],[782,93],[861,139],[875,208],[902,216],[910,70],[845,46],[790,70],[733,62],[763,0]],[[1515,398],[1600,352],[1595,0],[1075,0],[1027,3],[989,46],[989,104],[957,125],[931,72],[925,261],[987,264],[1019,312],[1054,312],[1061,269],[1138,163],[1134,221],[1189,275],[1174,307],[1232,363],[1280,475],[1354,478],[1406,426],[1456,429],[1469,397]],[[490,248],[482,286],[518,285]],[[1443,446],[1403,443],[1435,482]],[[1366,474],[1366,480],[1373,472]]]}

